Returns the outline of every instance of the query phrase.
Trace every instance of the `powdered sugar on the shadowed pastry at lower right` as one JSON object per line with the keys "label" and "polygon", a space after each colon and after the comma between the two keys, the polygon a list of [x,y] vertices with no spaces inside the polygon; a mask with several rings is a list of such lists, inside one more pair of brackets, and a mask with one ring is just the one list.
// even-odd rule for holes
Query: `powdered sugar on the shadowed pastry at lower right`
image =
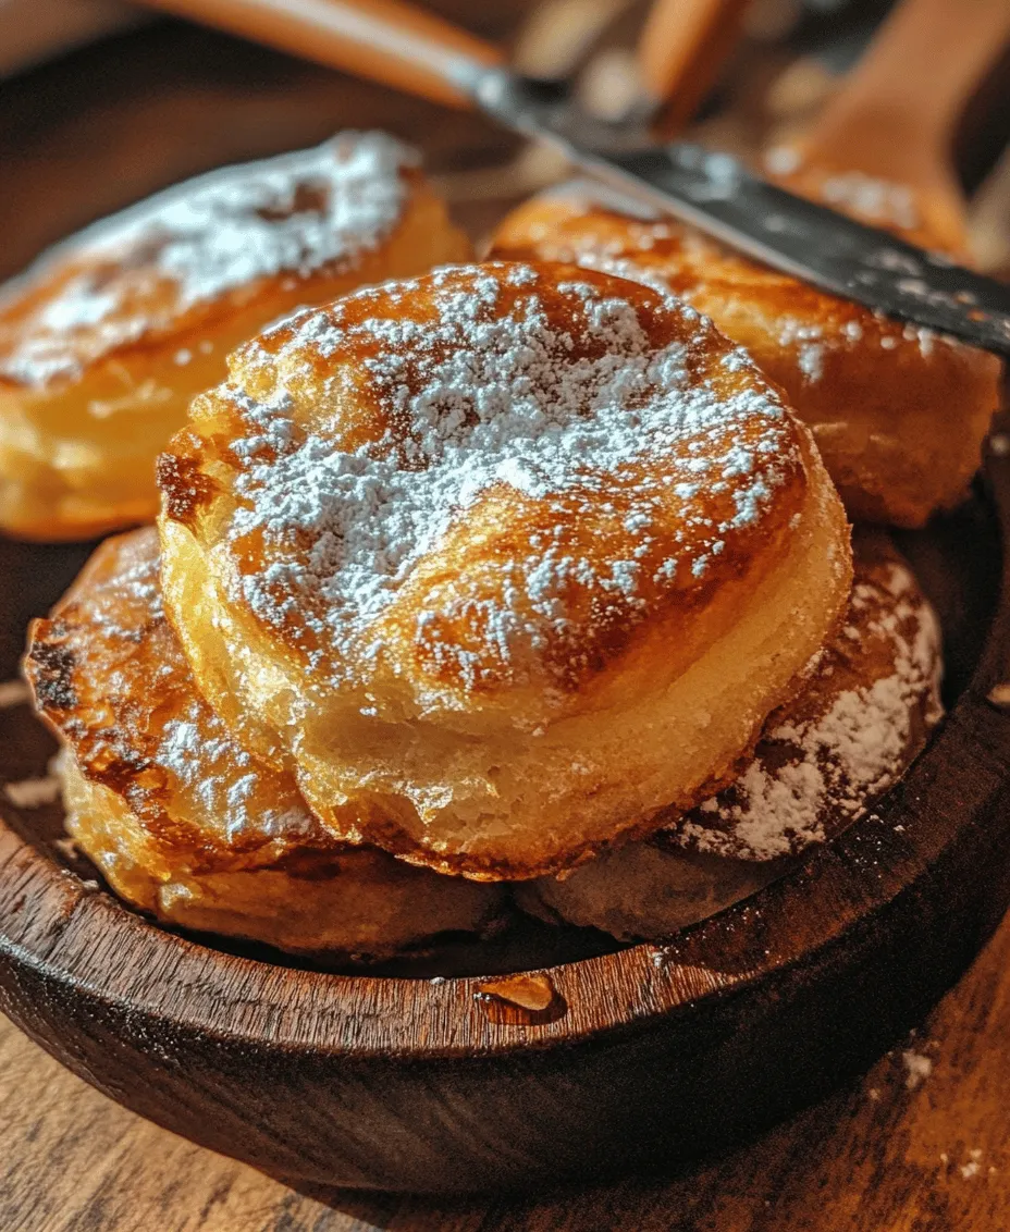
{"label": "powdered sugar on the shadowed pastry at lower right", "polygon": [[[868,616],[857,627],[861,612]],[[799,721],[780,715],[733,786],[669,832],[679,843],[750,860],[796,854],[824,840],[825,818],[839,829],[895,781],[915,708],[924,708],[926,727],[940,717],[936,620],[898,563],[872,579],[858,580],[857,572],[846,618],[835,647],[851,643],[852,670],[860,654],[878,659],[882,648],[891,670],[844,689],[813,715],[801,710]],[[842,663],[833,647],[817,670],[838,671]]]}

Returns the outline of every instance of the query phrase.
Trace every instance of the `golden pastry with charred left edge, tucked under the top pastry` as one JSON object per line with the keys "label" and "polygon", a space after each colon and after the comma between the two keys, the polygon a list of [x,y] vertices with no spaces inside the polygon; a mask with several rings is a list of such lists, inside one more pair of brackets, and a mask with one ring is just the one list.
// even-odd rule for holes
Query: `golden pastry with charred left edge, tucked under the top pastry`
{"label": "golden pastry with charred left edge, tucked under the top pastry", "polygon": [[164,923],[378,956],[479,929],[500,907],[494,886],[339,843],[289,775],[235,744],[165,620],[153,527],[102,543],[36,621],[26,667],[64,742],[70,834]]}

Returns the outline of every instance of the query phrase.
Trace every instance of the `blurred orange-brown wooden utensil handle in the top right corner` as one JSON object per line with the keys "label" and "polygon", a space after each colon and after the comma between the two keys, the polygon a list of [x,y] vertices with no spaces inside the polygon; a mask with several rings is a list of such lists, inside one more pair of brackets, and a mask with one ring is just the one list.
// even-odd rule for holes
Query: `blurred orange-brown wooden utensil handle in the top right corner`
{"label": "blurred orange-brown wooden utensil handle in the top right corner", "polygon": [[1008,38],[1010,0],[903,0],[804,143],[807,156],[838,164],[851,150],[851,165],[884,174],[911,150],[946,154]]}

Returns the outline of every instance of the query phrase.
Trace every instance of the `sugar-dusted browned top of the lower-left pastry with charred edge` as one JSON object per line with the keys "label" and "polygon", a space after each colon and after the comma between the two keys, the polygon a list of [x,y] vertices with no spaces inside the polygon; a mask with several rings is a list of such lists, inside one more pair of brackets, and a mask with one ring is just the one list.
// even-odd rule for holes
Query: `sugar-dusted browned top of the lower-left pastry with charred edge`
{"label": "sugar-dusted browned top of the lower-left pastry with charred edge", "polygon": [[138,816],[156,821],[153,833],[170,833],[168,817],[200,830],[207,844],[241,840],[246,849],[317,835],[293,780],[236,744],[197,691],[165,616],[156,532],[100,552],[115,553],[115,568],[63,617],[71,622],[81,696],[65,729],[81,769],[101,780],[117,766],[115,790]]}

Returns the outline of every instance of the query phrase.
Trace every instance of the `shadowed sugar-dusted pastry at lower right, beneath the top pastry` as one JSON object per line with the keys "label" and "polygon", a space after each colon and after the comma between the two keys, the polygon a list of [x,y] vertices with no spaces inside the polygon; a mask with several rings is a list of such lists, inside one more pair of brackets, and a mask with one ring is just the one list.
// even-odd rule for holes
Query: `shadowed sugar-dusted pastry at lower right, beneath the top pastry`
{"label": "shadowed sugar-dusted pastry at lower right, beneath the top pastry", "polygon": [[940,630],[886,537],[857,535],[845,621],[739,777],[643,843],[522,886],[535,915],[663,940],[746,898],[897,782],[941,715]]}

